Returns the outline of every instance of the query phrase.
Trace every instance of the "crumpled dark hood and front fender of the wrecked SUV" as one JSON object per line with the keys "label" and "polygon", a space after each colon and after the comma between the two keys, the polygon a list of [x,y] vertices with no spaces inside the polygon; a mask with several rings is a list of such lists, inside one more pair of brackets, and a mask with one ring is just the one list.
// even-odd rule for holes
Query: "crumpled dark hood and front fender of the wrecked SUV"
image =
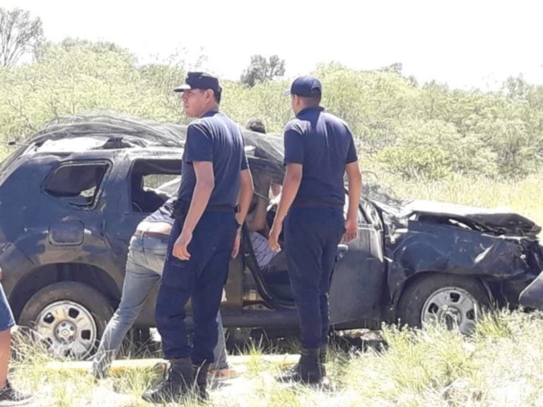
{"label": "crumpled dark hood and front fender of the wrecked SUV", "polygon": [[508,281],[537,276],[543,252],[532,220],[501,208],[404,201],[368,189],[383,224],[390,297],[416,273]]}

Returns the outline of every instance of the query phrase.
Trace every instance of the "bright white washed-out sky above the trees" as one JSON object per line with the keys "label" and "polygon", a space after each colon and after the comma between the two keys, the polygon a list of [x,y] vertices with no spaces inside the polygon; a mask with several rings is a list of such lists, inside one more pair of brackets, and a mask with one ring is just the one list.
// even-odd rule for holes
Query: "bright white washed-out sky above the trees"
{"label": "bright white washed-out sky above the trees", "polygon": [[253,54],[277,54],[286,76],[320,62],[351,69],[401,63],[419,83],[495,90],[508,76],[543,85],[543,4],[525,0],[0,0],[42,19],[47,40],[115,42],[141,63],[185,56],[237,80]]}

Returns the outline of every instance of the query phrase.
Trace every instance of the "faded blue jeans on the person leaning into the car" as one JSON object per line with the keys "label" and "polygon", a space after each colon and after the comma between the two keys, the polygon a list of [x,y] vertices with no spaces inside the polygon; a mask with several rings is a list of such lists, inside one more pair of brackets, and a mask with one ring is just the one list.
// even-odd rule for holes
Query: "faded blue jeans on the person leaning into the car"
{"label": "faded blue jeans on the person leaning into the car", "polygon": [[[158,285],[167,249],[168,237],[160,239],[133,236],[130,240],[121,302],[108,322],[98,351],[93,358],[93,372],[95,374],[103,376],[109,369],[124,336],[136,322],[151,290]],[[216,362],[212,367],[223,369],[228,367],[228,362],[226,361],[226,345],[220,312],[217,312],[216,319],[218,340],[214,350]]]}

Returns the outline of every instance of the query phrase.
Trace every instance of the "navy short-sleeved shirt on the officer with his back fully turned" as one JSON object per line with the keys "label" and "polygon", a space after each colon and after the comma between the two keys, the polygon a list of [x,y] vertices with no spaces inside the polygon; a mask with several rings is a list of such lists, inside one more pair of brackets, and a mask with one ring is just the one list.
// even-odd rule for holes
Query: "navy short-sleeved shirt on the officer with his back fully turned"
{"label": "navy short-sleeved shirt on the officer with his back fully turned", "polygon": [[308,107],[286,124],[285,164],[302,165],[293,206],[344,206],[345,165],[358,160],[347,124],[322,107]]}

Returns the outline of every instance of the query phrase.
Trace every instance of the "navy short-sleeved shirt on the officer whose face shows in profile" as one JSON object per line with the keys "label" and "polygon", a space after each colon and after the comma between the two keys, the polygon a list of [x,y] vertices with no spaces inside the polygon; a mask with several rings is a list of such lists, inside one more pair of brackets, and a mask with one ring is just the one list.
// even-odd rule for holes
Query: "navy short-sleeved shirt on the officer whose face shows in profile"
{"label": "navy short-sleeved shirt on the officer whose face shows in profile", "polygon": [[240,171],[248,167],[240,126],[221,112],[214,111],[189,124],[177,194],[181,201],[192,199],[196,185],[194,161],[213,163],[215,187],[209,205],[234,207],[238,202]]}

